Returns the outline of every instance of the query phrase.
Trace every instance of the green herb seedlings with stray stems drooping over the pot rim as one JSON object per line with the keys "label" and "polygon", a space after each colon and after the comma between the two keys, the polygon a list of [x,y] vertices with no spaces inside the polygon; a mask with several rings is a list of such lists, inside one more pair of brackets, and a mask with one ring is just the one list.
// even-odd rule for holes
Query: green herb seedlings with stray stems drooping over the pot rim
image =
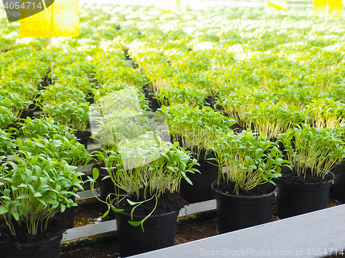
{"label": "green herb seedlings with stray stems drooping over the pot rim", "polygon": [[[192,159],[183,149],[175,144],[163,142],[157,137],[142,136],[136,141],[124,141],[113,149],[107,149],[104,152],[97,152],[97,157],[103,160],[108,176],[115,186],[115,194],[107,197],[108,211],[103,217],[108,215],[110,208],[115,212],[123,210],[114,206],[119,204],[124,197],[135,195],[137,200],[128,200],[133,206],[131,215],[135,208],[140,204],[154,199],[156,202],[165,191],[175,193],[179,191],[181,180],[188,179],[187,173],[195,173],[197,169],[193,166],[197,164],[197,160]],[[148,160],[150,162],[148,162]],[[93,180],[99,177],[98,169],[93,169]],[[92,188],[93,189],[93,188]],[[125,191],[125,195],[121,195],[120,189]],[[144,201],[139,202],[139,191],[144,190]],[[116,202],[110,202],[112,196]],[[143,223],[155,211],[155,208],[144,217],[140,222],[129,221],[132,226],[139,226],[144,230]]]}

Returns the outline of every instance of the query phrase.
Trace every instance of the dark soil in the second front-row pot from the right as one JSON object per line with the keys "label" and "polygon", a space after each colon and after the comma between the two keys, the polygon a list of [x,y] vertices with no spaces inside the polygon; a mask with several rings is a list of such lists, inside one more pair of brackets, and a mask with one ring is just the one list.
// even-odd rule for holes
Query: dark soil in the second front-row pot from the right
{"label": "dark soil in the second front-row pot from the right", "polygon": [[[219,187],[217,185],[213,186],[215,191],[220,193],[227,193],[230,195],[236,195],[235,191],[235,182],[226,182],[226,180],[221,179],[219,182]],[[239,196],[260,196],[260,195],[267,195],[268,193],[272,193],[275,191],[275,185],[270,183],[259,184],[253,189],[250,189],[248,192],[239,190]]]}

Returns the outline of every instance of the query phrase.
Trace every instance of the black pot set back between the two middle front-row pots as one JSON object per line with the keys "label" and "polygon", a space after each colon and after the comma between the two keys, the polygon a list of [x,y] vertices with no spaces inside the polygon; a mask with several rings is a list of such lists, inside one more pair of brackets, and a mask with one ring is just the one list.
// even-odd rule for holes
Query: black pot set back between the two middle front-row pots
{"label": "black pot set back between the two middle front-row pots", "polygon": [[179,193],[184,197],[184,200],[190,203],[204,202],[215,199],[211,184],[218,178],[218,166],[208,162],[201,163],[200,166],[195,166],[200,173],[188,173],[188,178],[193,182],[189,184],[186,180],[181,180]]}

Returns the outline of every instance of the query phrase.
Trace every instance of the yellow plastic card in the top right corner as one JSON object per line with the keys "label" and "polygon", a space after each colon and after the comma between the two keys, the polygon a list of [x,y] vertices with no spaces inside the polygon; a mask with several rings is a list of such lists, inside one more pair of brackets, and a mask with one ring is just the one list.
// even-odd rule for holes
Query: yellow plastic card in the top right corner
{"label": "yellow plastic card in the top right corner", "polygon": [[314,0],[314,16],[342,17],[342,0]]}

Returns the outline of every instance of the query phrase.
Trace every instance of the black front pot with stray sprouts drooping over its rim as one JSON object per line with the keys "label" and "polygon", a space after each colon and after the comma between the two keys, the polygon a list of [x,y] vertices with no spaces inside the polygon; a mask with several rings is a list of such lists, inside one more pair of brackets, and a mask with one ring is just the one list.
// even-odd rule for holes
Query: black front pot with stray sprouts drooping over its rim
{"label": "black front pot with stray sprouts drooping over its rim", "polygon": [[[137,255],[172,246],[175,241],[178,211],[163,215],[150,216],[141,226],[132,226],[128,223],[130,214],[117,213],[117,235],[119,237],[119,251],[121,257]],[[134,221],[140,221],[144,216],[133,215]]]}

